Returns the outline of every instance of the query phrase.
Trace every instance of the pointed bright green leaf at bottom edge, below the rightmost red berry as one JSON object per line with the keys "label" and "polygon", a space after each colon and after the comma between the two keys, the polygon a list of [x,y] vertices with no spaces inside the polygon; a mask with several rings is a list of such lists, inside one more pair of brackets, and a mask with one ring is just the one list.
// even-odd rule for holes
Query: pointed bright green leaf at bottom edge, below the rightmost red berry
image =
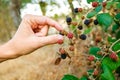
{"label": "pointed bright green leaf at bottom edge, below the rightmost red berry", "polygon": [[114,74],[107,65],[102,65],[103,73],[100,75],[100,80],[115,80]]}

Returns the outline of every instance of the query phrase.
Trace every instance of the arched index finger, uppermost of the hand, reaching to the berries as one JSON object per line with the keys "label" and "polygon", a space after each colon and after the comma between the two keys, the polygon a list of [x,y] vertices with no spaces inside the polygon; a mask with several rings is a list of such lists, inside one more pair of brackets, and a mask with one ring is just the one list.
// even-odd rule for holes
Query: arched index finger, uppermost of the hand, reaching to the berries
{"label": "arched index finger, uppermost of the hand, reaching to the berries", "polygon": [[56,28],[59,31],[63,30],[63,28],[56,21],[45,16],[37,16],[37,15],[29,14],[24,17],[24,20],[27,20],[28,23],[31,25],[35,25],[35,24],[49,25]]}

